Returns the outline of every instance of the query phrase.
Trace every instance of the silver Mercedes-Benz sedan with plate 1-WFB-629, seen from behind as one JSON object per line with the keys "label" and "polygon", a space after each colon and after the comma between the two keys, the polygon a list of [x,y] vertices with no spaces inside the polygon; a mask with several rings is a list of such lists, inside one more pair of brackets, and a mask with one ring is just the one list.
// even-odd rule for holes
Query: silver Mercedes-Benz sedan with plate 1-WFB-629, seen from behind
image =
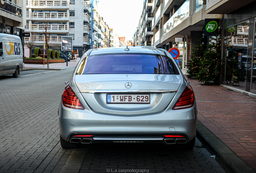
{"label": "silver Mercedes-Benz sedan with plate 1-WFB-629, seen from behind", "polygon": [[164,49],[88,50],[64,87],[60,143],[165,143],[192,149],[196,101],[190,84]]}

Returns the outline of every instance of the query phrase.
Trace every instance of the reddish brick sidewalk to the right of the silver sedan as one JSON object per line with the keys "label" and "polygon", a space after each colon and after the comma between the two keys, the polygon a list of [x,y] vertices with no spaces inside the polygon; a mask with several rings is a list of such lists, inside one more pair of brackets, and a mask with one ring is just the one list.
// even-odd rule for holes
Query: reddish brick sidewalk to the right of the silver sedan
{"label": "reddish brick sidewalk to the right of the silver sedan", "polygon": [[256,171],[256,99],[187,80],[196,96],[198,120]]}

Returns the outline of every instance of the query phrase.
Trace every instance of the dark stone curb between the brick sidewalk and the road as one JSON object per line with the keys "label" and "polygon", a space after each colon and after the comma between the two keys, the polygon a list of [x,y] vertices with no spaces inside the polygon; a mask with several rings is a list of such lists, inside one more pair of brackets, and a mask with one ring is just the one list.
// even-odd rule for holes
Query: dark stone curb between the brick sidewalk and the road
{"label": "dark stone curb between the brick sidewalk and the road", "polygon": [[200,121],[197,121],[196,137],[212,155],[215,155],[215,159],[227,173],[256,173]]}

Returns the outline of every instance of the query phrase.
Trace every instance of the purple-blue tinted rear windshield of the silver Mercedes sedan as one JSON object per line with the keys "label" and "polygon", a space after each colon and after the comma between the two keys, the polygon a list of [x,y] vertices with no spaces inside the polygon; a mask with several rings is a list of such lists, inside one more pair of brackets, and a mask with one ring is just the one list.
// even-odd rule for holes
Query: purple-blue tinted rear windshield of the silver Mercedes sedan
{"label": "purple-blue tinted rear windshield of the silver Mercedes sedan", "polygon": [[76,74],[179,74],[168,56],[103,54],[87,56]]}

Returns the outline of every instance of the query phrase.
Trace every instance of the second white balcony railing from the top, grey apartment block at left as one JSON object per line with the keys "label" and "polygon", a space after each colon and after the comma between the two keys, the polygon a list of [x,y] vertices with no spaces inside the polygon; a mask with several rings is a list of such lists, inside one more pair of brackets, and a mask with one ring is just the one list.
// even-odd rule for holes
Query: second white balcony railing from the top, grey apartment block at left
{"label": "second white balcony railing from the top, grey apartment block at left", "polygon": [[27,18],[69,18],[66,12],[27,12]]}

